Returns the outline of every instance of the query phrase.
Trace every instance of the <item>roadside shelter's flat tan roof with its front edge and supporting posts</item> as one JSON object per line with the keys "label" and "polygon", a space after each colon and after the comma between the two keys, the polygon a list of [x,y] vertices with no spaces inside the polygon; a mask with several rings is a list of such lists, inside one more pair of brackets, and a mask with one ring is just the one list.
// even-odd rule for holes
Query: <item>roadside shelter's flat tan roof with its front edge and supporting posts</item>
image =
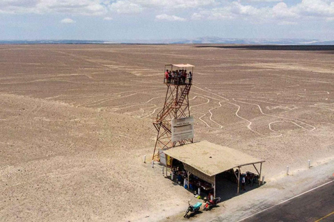
{"label": "roadside shelter's flat tan roof with its front edge and supporting posts", "polygon": [[[188,176],[188,181],[189,176],[192,174],[211,183],[214,188],[214,198],[216,197],[216,176],[231,169],[238,181],[238,194],[241,167],[253,165],[260,176],[258,180],[260,185],[262,163],[264,160],[257,159],[233,148],[202,141],[177,146],[163,152],[166,157],[162,160],[162,164],[166,164],[167,167],[173,169],[173,160],[182,162]],[[260,171],[257,170],[255,164],[260,164]],[[238,173],[235,173],[234,169],[238,169]]]}

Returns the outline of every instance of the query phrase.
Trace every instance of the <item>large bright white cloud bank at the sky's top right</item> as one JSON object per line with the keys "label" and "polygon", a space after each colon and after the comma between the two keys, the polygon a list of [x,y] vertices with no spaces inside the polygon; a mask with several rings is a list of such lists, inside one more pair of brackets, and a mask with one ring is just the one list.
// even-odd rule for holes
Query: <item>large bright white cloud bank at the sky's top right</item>
{"label": "large bright white cloud bank at the sky's top right", "polygon": [[302,21],[315,17],[330,21],[334,17],[334,2],[331,0],[301,0],[300,3],[290,7],[284,2],[279,2],[271,8],[232,1],[218,8],[199,10],[193,13],[192,19],[244,19],[255,23],[290,25],[296,24],[296,19]]}

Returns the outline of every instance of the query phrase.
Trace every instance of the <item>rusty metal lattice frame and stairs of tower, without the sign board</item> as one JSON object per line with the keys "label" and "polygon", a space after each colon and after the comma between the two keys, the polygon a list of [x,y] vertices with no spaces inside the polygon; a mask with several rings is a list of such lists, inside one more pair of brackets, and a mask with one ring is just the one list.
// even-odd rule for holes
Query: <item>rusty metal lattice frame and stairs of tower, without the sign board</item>
{"label": "rusty metal lattice frame and stairs of tower, without the sign board", "polygon": [[[181,65],[170,66],[172,67],[172,70],[173,66],[181,67]],[[180,78],[174,78],[173,80],[164,79],[164,84],[167,86],[164,108],[162,108],[153,119],[153,125],[157,129],[158,135],[154,146],[152,160],[159,161],[159,149],[166,150],[177,144],[182,145],[193,142],[193,139],[172,142],[171,133],[172,119],[190,117],[189,92],[191,88],[191,80],[192,74],[190,78],[186,78],[183,81],[180,80]]]}

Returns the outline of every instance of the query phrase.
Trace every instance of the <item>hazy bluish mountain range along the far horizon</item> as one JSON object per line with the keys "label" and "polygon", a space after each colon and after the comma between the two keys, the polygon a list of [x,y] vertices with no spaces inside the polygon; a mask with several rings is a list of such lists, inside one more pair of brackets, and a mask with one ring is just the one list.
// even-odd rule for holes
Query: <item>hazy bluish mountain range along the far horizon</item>
{"label": "hazy bluish mountain range along the far horizon", "polygon": [[334,45],[333,41],[308,39],[244,39],[198,37],[172,40],[0,40],[0,44],[280,44],[280,45]]}

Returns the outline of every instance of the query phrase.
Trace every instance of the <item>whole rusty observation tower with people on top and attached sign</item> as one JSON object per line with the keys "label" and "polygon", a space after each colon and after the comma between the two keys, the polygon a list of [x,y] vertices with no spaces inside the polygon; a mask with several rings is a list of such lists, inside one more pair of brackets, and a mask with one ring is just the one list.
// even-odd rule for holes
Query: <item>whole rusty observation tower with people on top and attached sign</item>
{"label": "whole rusty observation tower with people on top and attached sign", "polygon": [[167,92],[164,108],[153,118],[158,134],[152,160],[160,161],[161,151],[193,142],[193,117],[189,107],[193,67],[190,64],[165,65]]}

